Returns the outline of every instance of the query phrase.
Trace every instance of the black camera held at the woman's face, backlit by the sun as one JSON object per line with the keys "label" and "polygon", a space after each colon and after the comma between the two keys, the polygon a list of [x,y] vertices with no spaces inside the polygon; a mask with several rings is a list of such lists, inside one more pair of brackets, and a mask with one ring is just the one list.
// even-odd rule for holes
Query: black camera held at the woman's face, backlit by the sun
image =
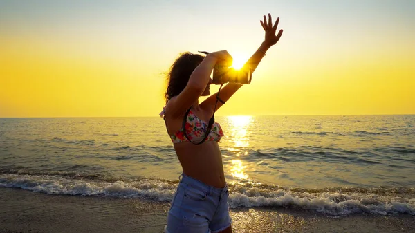
{"label": "black camera held at the woman's face, backlit by the sun", "polygon": [[240,70],[228,66],[216,65],[213,68],[213,84],[238,83],[250,84],[252,79],[252,70],[250,68],[241,68]]}

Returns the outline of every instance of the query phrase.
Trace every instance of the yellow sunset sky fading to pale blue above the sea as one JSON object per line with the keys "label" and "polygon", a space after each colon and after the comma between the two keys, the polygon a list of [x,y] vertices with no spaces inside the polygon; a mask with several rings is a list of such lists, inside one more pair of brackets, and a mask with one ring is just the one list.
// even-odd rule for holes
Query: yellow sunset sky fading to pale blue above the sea
{"label": "yellow sunset sky fading to pale blue above the sea", "polygon": [[0,117],[158,116],[180,53],[248,59],[268,12],[284,34],[217,115],[415,114],[412,0],[3,0]]}

